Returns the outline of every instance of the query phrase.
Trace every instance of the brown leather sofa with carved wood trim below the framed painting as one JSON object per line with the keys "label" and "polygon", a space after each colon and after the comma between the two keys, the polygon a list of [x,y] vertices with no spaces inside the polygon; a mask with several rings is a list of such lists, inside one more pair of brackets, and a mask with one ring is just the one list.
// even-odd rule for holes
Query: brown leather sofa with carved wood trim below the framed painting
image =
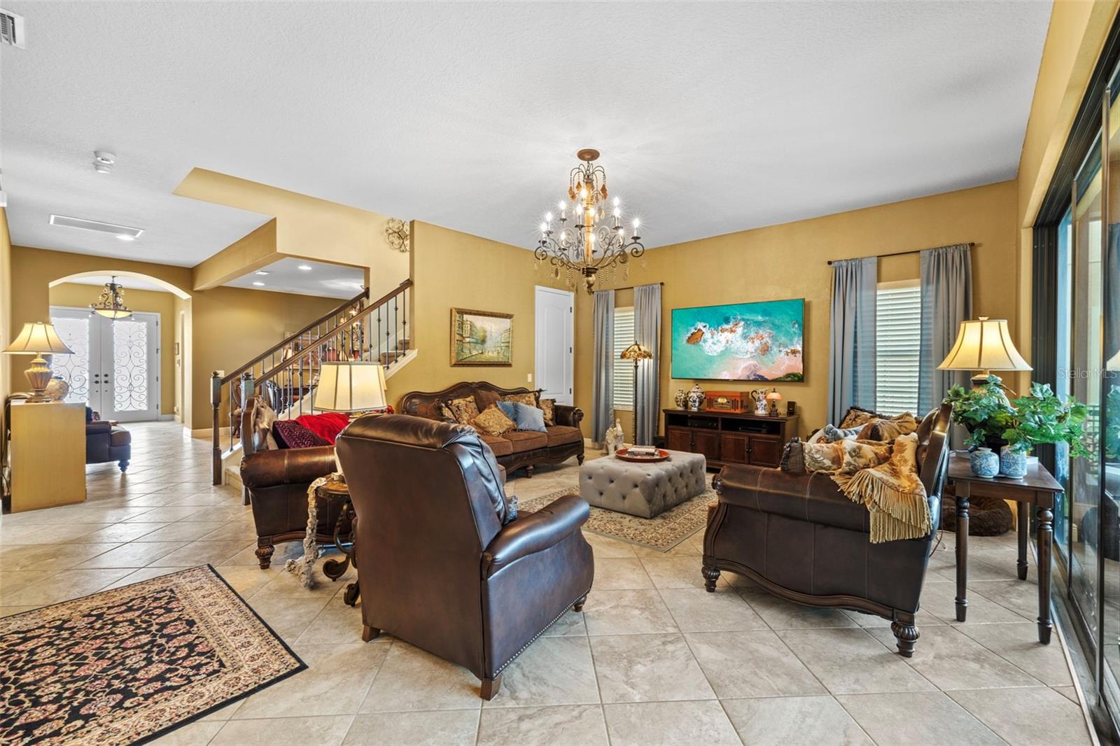
{"label": "brown leather sofa with carved wood trim below the framed painting", "polygon": [[[456,383],[442,391],[413,391],[401,398],[399,411],[432,420],[442,420],[438,404],[449,399],[474,397],[478,411],[486,409],[501,397],[530,393],[529,389],[502,389],[486,381]],[[536,464],[560,464],[572,456],[584,463],[584,433],[579,429],[584,410],[566,404],[556,405],[556,425],[548,432],[507,432],[502,437],[479,435],[491,447],[497,463],[508,472],[524,468],[525,476],[533,476]]]}

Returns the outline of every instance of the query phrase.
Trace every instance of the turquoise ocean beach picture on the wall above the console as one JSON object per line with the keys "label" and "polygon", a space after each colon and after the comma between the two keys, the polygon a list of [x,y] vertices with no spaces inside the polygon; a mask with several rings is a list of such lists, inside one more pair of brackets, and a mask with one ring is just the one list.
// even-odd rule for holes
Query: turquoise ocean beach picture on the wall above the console
{"label": "turquoise ocean beach picture on the wall above the console", "polygon": [[805,300],[765,300],[672,314],[672,376],[804,381]]}

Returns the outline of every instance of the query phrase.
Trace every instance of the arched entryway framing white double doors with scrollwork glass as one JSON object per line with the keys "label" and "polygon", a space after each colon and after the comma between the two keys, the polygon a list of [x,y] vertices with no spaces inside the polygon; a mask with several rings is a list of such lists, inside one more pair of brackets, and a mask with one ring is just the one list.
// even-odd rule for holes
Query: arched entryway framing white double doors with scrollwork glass
{"label": "arched entryway framing white double doors with scrollwork glass", "polygon": [[[133,311],[121,319],[90,313],[111,277]],[[48,283],[50,318],[74,355],[55,372],[71,386],[67,400],[86,403],[103,419],[124,422],[189,421],[192,296],[149,274],[90,270]]]}

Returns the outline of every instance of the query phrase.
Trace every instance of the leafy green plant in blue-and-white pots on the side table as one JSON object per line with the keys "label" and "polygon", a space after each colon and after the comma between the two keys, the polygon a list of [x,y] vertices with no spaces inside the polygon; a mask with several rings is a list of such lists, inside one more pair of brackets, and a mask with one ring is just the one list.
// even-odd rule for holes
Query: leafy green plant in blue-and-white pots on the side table
{"label": "leafy green plant in blue-and-white pots on the side table", "polygon": [[1023,478],[1027,474],[1027,454],[1042,444],[1064,442],[1070,456],[1089,456],[1082,425],[1089,411],[1072,398],[1062,401],[1046,383],[1032,383],[1026,397],[1008,399],[998,376],[965,391],[953,386],[946,401],[953,404],[953,421],[969,430],[973,448],[1002,441],[999,448],[1000,474]]}

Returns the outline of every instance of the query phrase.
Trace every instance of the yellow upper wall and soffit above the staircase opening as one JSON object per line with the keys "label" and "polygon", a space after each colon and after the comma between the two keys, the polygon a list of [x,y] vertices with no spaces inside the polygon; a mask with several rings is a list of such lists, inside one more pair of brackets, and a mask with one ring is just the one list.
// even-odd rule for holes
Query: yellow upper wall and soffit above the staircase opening
{"label": "yellow upper wall and soffit above the staircase opening", "polygon": [[220,285],[282,257],[363,267],[371,298],[380,298],[409,277],[409,254],[394,251],[385,241],[384,215],[203,168],[193,169],[175,194],[276,216],[274,253],[262,254],[268,236],[250,234],[250,246],[239,245],[246,236],[198,264],[194,288]]}

